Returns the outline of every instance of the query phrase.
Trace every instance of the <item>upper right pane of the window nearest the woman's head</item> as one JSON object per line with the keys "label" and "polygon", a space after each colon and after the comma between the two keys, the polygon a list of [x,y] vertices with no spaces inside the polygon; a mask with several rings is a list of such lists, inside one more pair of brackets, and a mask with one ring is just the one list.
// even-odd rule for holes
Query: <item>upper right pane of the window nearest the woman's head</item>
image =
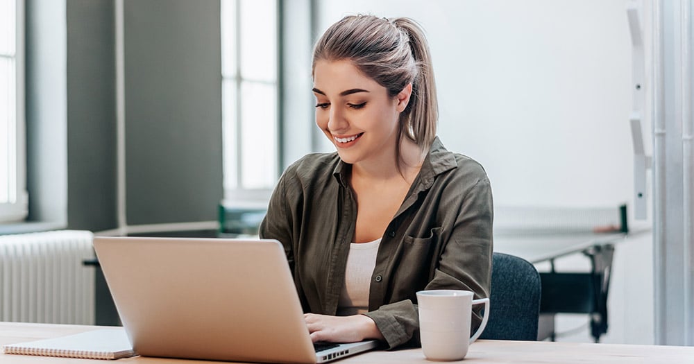
{"label": "upper right pane of the window nearest the woman's head", "polygon": [[251,80],[277,78],[277,1],[241,0],[241,75]]}

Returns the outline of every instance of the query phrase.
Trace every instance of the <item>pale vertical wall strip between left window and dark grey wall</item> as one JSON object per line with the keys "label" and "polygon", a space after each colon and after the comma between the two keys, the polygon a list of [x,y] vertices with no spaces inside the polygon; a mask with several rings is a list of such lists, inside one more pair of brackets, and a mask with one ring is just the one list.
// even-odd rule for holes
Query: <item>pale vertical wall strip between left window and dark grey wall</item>
{"label": "pale vertical wall strip between left window and dark grey wall", "polygon": [[26,2],[28,220],[67,221],[65,1]]}

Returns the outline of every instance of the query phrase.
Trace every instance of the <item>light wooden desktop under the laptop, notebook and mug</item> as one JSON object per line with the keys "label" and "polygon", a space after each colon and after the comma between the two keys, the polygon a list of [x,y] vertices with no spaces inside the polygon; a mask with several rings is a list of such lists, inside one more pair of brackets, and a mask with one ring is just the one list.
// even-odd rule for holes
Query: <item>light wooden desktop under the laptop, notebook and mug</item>
{"label": "light wooden desktop under the laptop, notebook and mug", "polygon": [[[43,338],[56,338],[99,328],[97,326],[0,322],[0,345],[23,343]],[[0,354],[0,363],[103,364],[105,361]],[[210,362],[135,356],[133,358],[118,359],[116,363],[201,364]],[[407,364],[434,362],[427,361],[421,349],[403,349],[391,352],[367,352],[341,359],[335,363]],[[468,356],[462,363],[694,363],[694,347],[478,340],[471,345]]]}

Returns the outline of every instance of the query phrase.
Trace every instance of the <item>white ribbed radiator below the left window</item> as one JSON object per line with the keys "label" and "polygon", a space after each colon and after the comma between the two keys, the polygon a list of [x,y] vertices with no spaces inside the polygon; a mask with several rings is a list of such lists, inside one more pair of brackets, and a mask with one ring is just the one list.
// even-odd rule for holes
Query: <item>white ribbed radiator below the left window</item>
{"label": "white ribbed radiator below the left window", "polygon": [[0,321],[94,324],[91,232],[0,235]]}

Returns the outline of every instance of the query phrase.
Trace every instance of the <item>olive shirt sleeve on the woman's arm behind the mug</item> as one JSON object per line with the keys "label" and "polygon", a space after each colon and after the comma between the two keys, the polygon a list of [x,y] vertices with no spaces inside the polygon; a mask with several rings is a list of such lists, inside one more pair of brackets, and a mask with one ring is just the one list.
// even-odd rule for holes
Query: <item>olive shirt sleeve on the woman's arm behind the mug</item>
{"label": "olive shirt sleeve on the woman's arm behind the mug", "polygon": [[[460,289],[473,291],[475,299],[489,297],[493,200],[486,176],[455,203],[458,207],[443,207],[456,216],[452,223],[447,224],[450,226],[443,226],[443,249],[433,278],[425,289]],[[471,333],[482,322],[481,309],[481,306],[473,307]],[[421,345],[417,305],[411,300],[386,304],[365,315],[374,320],[389,349],[404,344]]]}

